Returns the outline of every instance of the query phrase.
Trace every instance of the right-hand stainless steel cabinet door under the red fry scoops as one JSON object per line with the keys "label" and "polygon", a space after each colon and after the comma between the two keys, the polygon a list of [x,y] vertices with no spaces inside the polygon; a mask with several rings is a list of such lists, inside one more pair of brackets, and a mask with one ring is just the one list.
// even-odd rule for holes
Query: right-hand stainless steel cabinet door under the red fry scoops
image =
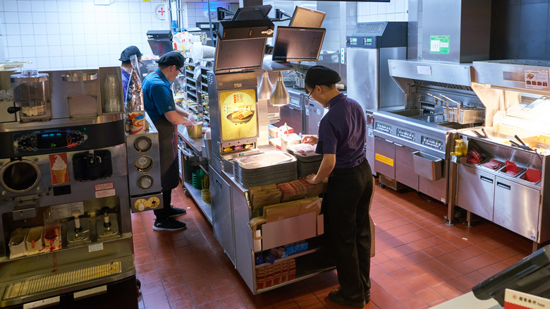
{"label": "right-hand stainless steel cabinet door under the red fry scoops", "polygon": [[540,191],[496,177],[494,223],[538,241]]}

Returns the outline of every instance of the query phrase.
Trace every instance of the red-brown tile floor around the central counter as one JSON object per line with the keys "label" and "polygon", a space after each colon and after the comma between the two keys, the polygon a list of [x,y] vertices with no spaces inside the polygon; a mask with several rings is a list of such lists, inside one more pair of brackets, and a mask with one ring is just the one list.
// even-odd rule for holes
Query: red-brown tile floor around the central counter
{"label": "red-brown tile floor around the central counter", "polygon": [[[252,295],[181,186],[173,205],[188,210],[178,218],[188,229],[153,231],[153,212],[132,214],[140,308],[351,308],[327,297],[338,288],[336,271]],[[446,226],[446,207],[412,191],[377,186],[371,214],[376,256],[365,308],[429,308],[531,253],[527,238],[489,222]]]}

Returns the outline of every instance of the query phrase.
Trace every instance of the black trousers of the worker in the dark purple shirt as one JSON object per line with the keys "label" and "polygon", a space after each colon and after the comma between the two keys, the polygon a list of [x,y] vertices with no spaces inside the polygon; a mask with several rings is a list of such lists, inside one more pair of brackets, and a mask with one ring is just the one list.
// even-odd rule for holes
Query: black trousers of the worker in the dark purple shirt
{"label": "black trousers of the worker in the dark purple shirt", "polygon": [[369,202],[372,172],[367,160],[350,169],[334,169],[323,206],[334,249],[338,283],[346,298],[362,298],[370,289]]}

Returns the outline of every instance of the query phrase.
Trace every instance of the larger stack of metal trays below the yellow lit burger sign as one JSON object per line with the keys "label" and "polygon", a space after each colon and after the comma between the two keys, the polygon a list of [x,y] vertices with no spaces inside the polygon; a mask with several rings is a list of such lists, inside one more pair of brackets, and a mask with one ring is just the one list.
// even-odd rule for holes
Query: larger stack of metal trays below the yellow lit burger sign
{"label": "larger stack of metal trays below the yellow lit burger sign", "polygon": [[298,178],[296,158],[280,151],[240,157],[233,159],[233,176],[246,189],[295,181]]}

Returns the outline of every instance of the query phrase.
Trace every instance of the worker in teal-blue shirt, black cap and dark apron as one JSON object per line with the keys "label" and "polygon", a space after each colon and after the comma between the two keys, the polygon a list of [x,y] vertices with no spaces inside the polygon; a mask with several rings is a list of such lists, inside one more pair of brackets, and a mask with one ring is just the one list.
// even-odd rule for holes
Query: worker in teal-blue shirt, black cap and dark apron
{"label": "worker in teal-blue shirt, black cap and dark apron", "polygon": [[185,63],[185,57],[178,52],[168,52],[161,56],[159,68],[149,73],[143,81],[143,104],[145,111],[159,132],[161,166],[161,188],[164,208],[154,210],[154,231],[176,231],[185,229],[185,223],[174,217],[185,214],[184,209],[171,205],[172,189],[178,186],[178,139],[177,126],[192,126],[195,116],[185,111],[173,101],[170,81],[175,79]]}

